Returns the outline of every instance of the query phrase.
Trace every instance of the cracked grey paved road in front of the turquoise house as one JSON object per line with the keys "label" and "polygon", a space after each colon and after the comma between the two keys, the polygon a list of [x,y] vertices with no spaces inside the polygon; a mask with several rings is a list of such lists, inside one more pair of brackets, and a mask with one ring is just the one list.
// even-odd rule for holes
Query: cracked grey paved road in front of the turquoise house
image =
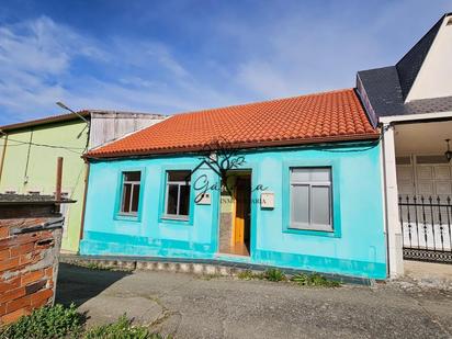
{"label": "cracked grey paved road in front of the turquoise house", "polygon": [[127,313],[176,338],[452,338],[450,293],[395,284],[309,289],[61,264],[57,291],[91,324]]}

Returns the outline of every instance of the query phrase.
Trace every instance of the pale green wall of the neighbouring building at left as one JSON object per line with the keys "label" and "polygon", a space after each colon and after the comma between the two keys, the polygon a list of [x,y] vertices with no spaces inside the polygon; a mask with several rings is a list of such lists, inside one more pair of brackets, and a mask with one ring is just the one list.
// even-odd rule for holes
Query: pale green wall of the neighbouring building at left
{"label": "pale green wall of the neighbouring building at left", "polygon": [[[19,193],[27,193],[38,190],[42,194],[54,194],[57,158],[64,158],[63,191],[77,200],[77,203],[67,206],[67,231],[61,248],[68,251],[78,251],[79,248],[87,170],[87,165],[80,156],[87,145],[87,138],[86,123],[78,120],[8,132],[0,178],[0,192],[15,190]],[[1,136],[0,155],[3,152],[4,142],[5,137]],[[30,145],[30,142],[59,147]]]}

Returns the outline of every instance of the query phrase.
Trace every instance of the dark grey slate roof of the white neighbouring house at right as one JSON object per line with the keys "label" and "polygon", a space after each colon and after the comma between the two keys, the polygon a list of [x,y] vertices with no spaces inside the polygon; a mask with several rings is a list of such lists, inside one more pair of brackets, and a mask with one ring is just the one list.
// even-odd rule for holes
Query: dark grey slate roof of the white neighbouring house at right
{"label": "dark grey slate roof of the white neighbouring house at right", "polygon": [[357,75],[357,91],[374,125],[378,116],[452,111],[452,97],[415,100],[405,99],[423,64],[444,16],[395,65],[361,70]]}

